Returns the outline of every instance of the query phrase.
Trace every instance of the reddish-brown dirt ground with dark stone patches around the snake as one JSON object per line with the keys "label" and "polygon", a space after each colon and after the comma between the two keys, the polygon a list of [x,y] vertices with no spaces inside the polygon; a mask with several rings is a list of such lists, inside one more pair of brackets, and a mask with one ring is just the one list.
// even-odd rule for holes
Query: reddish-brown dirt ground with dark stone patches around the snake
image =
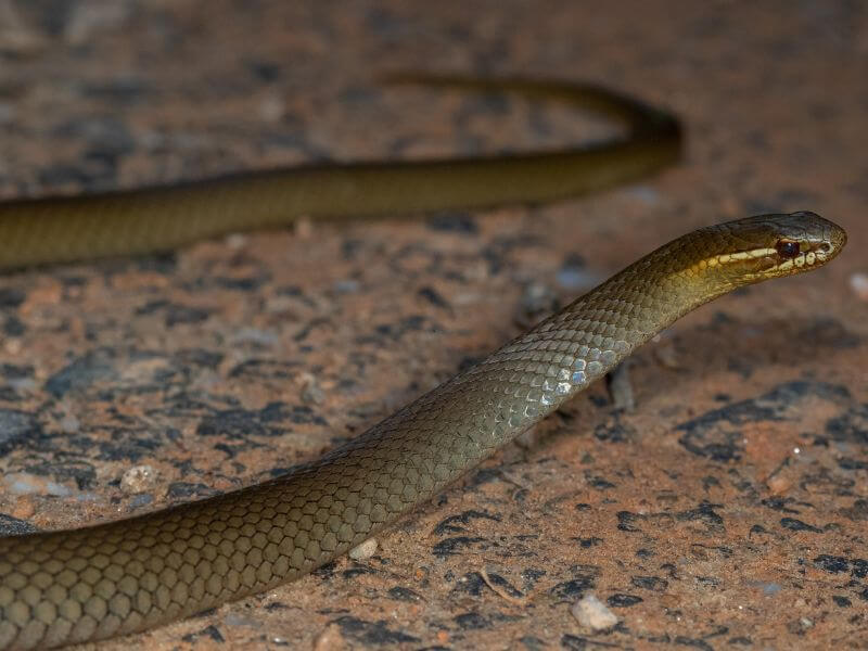
{"label": "reddish-brown dirt ground with dark stone patches around the snake", "polygon": [[[812,209],[850,243],[679,321],[633,411],[591,387],[372,557],[95,648],[868,648],[864,3],[0,0],[0,195],[608,131],[394,69],[602,81],[680,115],[686,155],[545,207],[0,278],[0,531],[315,458],[698,226]],[[571,614],[589,595],[614,628]]]}

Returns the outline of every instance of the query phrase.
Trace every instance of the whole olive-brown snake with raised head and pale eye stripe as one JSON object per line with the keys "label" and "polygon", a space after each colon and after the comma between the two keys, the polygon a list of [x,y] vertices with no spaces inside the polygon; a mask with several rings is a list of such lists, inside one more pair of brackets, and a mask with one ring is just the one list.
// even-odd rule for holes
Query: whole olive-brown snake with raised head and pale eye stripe
{"label": "whole olive-brown snake with raised head and pale eye stripe", "polygon": [[[285,224],[286,215],[549,201],[637,178],[677,156],[673,116],[600,87],[434,82],[590,105],[624,119],[627,137],[580,151],[311,166],[10,202],[0,204],[0,265],[161,251]],[[141,631],[304,576],[459,480],[686,312],[738,288],[819,268],[845,242],[842,228],[810,212],[701,228],[283,475],[126,520],[0,538],[0,649]]]}

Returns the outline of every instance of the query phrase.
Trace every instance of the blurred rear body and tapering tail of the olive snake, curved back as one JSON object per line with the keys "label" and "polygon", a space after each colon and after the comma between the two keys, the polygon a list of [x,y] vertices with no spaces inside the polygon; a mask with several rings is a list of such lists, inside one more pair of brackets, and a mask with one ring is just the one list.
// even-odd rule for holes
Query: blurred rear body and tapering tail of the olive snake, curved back
{"label": "blurred rear body and tapering tail of the olive snake, curved back", "polygon": [[0,204],[0,268],[167,251],[298,217],[408,215],[551,201],[640,178],[680,153],[675,116],[599,86],[421,75],[388,81],[548,99],[602,114],[622,124],[626,137],[547,152],[309,165],[171,187],[7,202]]}

